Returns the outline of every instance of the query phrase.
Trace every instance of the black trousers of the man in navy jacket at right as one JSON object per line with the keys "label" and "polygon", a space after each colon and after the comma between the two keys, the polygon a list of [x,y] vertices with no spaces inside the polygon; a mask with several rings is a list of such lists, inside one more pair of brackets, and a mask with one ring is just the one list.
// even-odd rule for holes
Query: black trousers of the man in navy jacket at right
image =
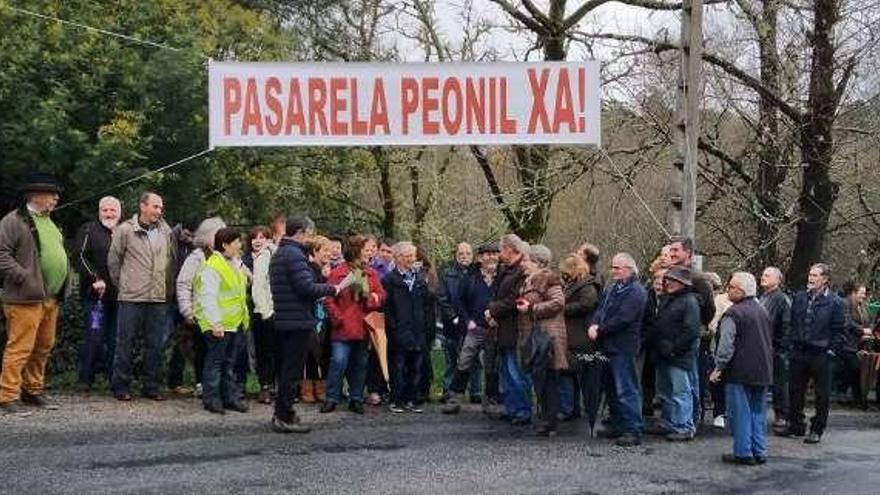
{"label": "black trousers of the man in navy jacket at right", "polygon": [[831,356],[824,351],[793,351],[788,385],[791,401],[788,424],[791,429],[805,429],[804,403],[810,380],[816,389],[816,415],[810,420],[810,431],[821,435],[828,424],[831,401]]}

